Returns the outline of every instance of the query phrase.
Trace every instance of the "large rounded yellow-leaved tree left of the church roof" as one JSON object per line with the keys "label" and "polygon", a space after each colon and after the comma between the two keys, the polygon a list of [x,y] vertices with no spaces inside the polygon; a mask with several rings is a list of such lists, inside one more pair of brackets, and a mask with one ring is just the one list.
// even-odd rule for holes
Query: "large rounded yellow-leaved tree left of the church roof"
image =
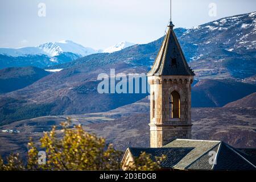
{"label": "large rounded yellow-leaved tree left of the church roof", "polygon": [[40,139],[46,151],[46,164],[39,165],[38,150],[28,143],[28,169],[45,170],[118,170],[121,152],[106,146],[104,138],[85,132],[81,125],[70,129],[70,122],[62,123],[63,136],[56,137],[55,127]]}

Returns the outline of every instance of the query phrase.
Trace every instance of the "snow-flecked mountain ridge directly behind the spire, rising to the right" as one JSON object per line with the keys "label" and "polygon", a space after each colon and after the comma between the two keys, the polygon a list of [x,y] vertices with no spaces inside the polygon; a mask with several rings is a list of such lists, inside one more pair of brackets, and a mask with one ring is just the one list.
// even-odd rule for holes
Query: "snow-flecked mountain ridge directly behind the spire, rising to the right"
{"label": "snow-flecked mountain ridge directly behind the spire, rising to the right", "polygon": [[[256,73],[255,24],[254,12],[214,20],[190,29],[176,28],[175,33],[197,78],[244,79]],[[85,56],[53,68],[79,67],[97,60],[93,61],[96,67],[124,62],[149,69],[162,40],[160,38],[148,44],[131,46],[112,54]]]}

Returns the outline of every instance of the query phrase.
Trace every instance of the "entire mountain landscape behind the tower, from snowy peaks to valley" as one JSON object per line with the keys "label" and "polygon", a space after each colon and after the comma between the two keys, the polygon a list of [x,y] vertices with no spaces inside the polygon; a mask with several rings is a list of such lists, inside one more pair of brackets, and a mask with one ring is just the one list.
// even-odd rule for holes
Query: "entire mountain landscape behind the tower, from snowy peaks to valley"
{"label": "entire mountain landscape behind the tower, from snowy peaks to valley", "polygon": [[[175,29],[196,73],[192,84],[192,138],[256,147],[255,27],[254,12]],[[84,57],[78,53],[79,46],[76,52],[65,52],[72,49],[68,46],[61,52],[58,47],[68,41],[39,46],[46,52],[42,55],[0,54],[1,68],[19,67],[0,70],[0,129],[20,131],[0,132],[0,143],[5,143],[0,145],[0,154],[19,151],[25,156],[29,137],[38,142],[44,131],[68,116],[72,125],[81,124],[119,150],[148,147],[148,94],[100,94],[97,86],[101,80],[97,77],[100,73],[110,75],[113,68],[115,74],[147,73],[162,41],[127,44],[129,47],[120,43],[108,52]]]}

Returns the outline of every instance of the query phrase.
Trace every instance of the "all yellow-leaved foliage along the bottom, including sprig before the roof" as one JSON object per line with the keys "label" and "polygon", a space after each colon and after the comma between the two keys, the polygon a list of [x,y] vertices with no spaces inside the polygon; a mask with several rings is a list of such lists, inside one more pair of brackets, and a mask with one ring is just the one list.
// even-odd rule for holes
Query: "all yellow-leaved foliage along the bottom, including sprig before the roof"
{"label": "all yellow-leaved foliage along the bottom, including sprig before the roof", "polygon": [[[104,138],[84,131],[81,125],[69,127],[71,120],[61,123],[61,132],[53,126],[40,139],[41,148],[28,143],[28,160],[24,165],[19,154],[7,157],[6,163],[0,157],[0,170],[119,170],[121,151],[114,149],[113,144],[106,144]],[[39,163],[39,151],[46,152],[46,163]],[[147,154],[139,156],[130,170],[154,170],[159,168],[160,160],[151,160]]]}

